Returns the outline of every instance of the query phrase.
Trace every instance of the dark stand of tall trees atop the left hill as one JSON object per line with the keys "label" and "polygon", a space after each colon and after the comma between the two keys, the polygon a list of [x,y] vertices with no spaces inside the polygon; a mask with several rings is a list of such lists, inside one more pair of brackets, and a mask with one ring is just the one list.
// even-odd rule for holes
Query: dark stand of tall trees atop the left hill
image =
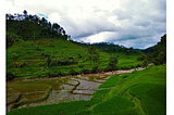
{"label": "dark stand of tall trees atop the left hill", "polygon": [[24,40],[41,38],[61,38],[67,40],[66,31],[58,23],[51,24],[45,17],[28,14],[5,14],[7,33],[17,35]]}

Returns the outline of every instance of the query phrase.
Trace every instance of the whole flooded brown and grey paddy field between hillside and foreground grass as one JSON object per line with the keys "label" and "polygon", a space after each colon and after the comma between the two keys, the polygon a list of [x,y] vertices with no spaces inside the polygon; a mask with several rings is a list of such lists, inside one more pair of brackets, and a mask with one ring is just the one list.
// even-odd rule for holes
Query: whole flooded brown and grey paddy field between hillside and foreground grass
{"label": "whole flooded brown and grey paddy field between hillside and foreground grass", "polygon": [[[115,74],[133,71],[115,71],[102,74],[67,76],[62,78],[23,79],[7,82],[7,111],[25,106],[90,100],[98,87]],[[140,71],[140,69],[139,69]]]}

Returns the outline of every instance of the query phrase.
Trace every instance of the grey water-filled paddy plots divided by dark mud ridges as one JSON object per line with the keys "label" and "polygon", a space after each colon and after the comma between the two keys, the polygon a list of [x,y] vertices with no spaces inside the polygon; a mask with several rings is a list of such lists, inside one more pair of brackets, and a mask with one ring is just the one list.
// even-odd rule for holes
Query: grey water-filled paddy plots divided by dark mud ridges
{"label": "grey water-filled paddy plots divided by dark mud ridges", "polygon": [[[69,102],[69,101],[77,101],[77,100],[90,100],[94,92],[99,87],[99,85],[100,82],[87,81],[79,78],[71,78],[66,84],[62,84],[59,90],[52,89],[49,92],[48,98],[46,100],[36,103],[27,103],[18,106],[17,108]],[[41,92],[36,91],[33,92],[33,95],[39,93]],[[27,101],[27,100],[22,97],[20,101]],[[14,104],[8,105],[7,111],[11,111],[13,105]]]}

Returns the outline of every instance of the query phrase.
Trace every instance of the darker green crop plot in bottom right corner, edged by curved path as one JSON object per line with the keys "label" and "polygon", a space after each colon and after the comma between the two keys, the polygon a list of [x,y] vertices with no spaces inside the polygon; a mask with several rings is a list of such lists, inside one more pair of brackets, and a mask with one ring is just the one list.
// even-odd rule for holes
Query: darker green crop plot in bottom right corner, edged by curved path
{"label": "darker green crop plot in bottom right corner, edged by curved path", "polygon": [[164,115],[166,113],[165,85],[139,85],[129,92],[141,100],[146,115]]}

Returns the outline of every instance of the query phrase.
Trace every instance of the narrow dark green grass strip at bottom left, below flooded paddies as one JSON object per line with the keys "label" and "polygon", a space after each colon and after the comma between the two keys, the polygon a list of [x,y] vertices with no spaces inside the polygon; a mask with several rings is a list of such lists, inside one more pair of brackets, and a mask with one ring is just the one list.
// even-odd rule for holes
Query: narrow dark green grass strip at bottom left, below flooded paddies
{"label": "narrow dark green grass strip at bottom left, below flooded paddies", "polygon": [[89,106],[88,101],[74,101],[60,104],[36,106],[36,107],[25,107],[11,111],[8,115],[67,115],[75,114],[80,111],[87,110]]}

